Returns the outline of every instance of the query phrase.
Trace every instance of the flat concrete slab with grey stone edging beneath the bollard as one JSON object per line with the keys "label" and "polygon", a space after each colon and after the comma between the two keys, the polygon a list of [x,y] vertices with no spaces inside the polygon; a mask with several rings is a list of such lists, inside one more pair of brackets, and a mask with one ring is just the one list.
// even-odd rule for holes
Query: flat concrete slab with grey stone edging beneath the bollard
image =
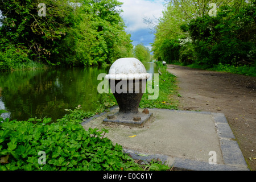
{"label": "flat concrete slab with grey stone edging beneath the bollard", "polygon": [[121,144],[134,159],[159,158],[169,166],[188,170],[248,170],[224,114],[148,110],[153,119],[142,128],[105,125],[102,121],[116,113],[118,107],[87,119],[82,126],[86,130],[108,129],[105,136],[114,144]]}

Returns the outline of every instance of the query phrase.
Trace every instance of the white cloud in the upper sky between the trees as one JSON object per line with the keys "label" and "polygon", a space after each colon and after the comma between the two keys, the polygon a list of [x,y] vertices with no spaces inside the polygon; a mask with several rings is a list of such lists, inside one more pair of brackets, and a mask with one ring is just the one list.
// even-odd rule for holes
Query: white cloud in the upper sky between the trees
{"label": "white cloud in the upper sky between the trees", "polygon": [[125,20],[126,31],[129,33],[148,29],[143,17],[159,18],[162,16],[164,0],[119,0],[123,2],[121,16]]}

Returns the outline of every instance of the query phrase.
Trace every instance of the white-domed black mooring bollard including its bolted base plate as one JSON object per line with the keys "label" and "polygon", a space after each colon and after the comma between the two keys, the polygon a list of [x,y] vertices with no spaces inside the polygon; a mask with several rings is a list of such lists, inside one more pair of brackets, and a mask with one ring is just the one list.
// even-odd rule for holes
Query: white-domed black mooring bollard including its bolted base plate
{"label": "white-domed black mooring bollard including its bolted base plate", "polygon": [[105,118],[105,123],[143,126],[150,119],[152,113],[139,113],[138,110],[149,77],[144,65],[134,57],[121,58],[112,64],[106,79],[117,100],[119,112]]}

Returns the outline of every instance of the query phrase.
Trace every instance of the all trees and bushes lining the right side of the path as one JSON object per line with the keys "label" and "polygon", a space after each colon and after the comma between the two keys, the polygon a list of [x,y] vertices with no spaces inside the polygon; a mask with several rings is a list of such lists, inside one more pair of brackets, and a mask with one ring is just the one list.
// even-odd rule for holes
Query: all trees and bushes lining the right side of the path
{"label": "all trees and bushes lining the right side of the path", "polygon": [[[210,2],[216,3],[217,16],[208,15]],[[172,0],[156,27],[154,56],[167,63],[216,69],[220,64],[232,65],[251,72],[256,64],[255,12],[255,1]],[[175,53],[178,59],[166,56]],[[234,68],[228,69],[242,73]]]}

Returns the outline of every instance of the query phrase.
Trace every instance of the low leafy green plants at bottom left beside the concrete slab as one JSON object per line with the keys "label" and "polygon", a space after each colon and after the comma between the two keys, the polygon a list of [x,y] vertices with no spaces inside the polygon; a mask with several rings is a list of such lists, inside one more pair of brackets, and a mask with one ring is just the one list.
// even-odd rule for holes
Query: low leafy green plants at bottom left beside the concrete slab
{"label": "low leafy green plants at bottom left beside the concrete slab", "polygon": [[[56,123],[51,118],[3,121],[0,118],[0,170],[129,170],[141,169],[122,146],[102,136],[107,130],[85,131],[78,123],[91,115],[74,110]],[[39,164],[40,151],[46,163]]]}

